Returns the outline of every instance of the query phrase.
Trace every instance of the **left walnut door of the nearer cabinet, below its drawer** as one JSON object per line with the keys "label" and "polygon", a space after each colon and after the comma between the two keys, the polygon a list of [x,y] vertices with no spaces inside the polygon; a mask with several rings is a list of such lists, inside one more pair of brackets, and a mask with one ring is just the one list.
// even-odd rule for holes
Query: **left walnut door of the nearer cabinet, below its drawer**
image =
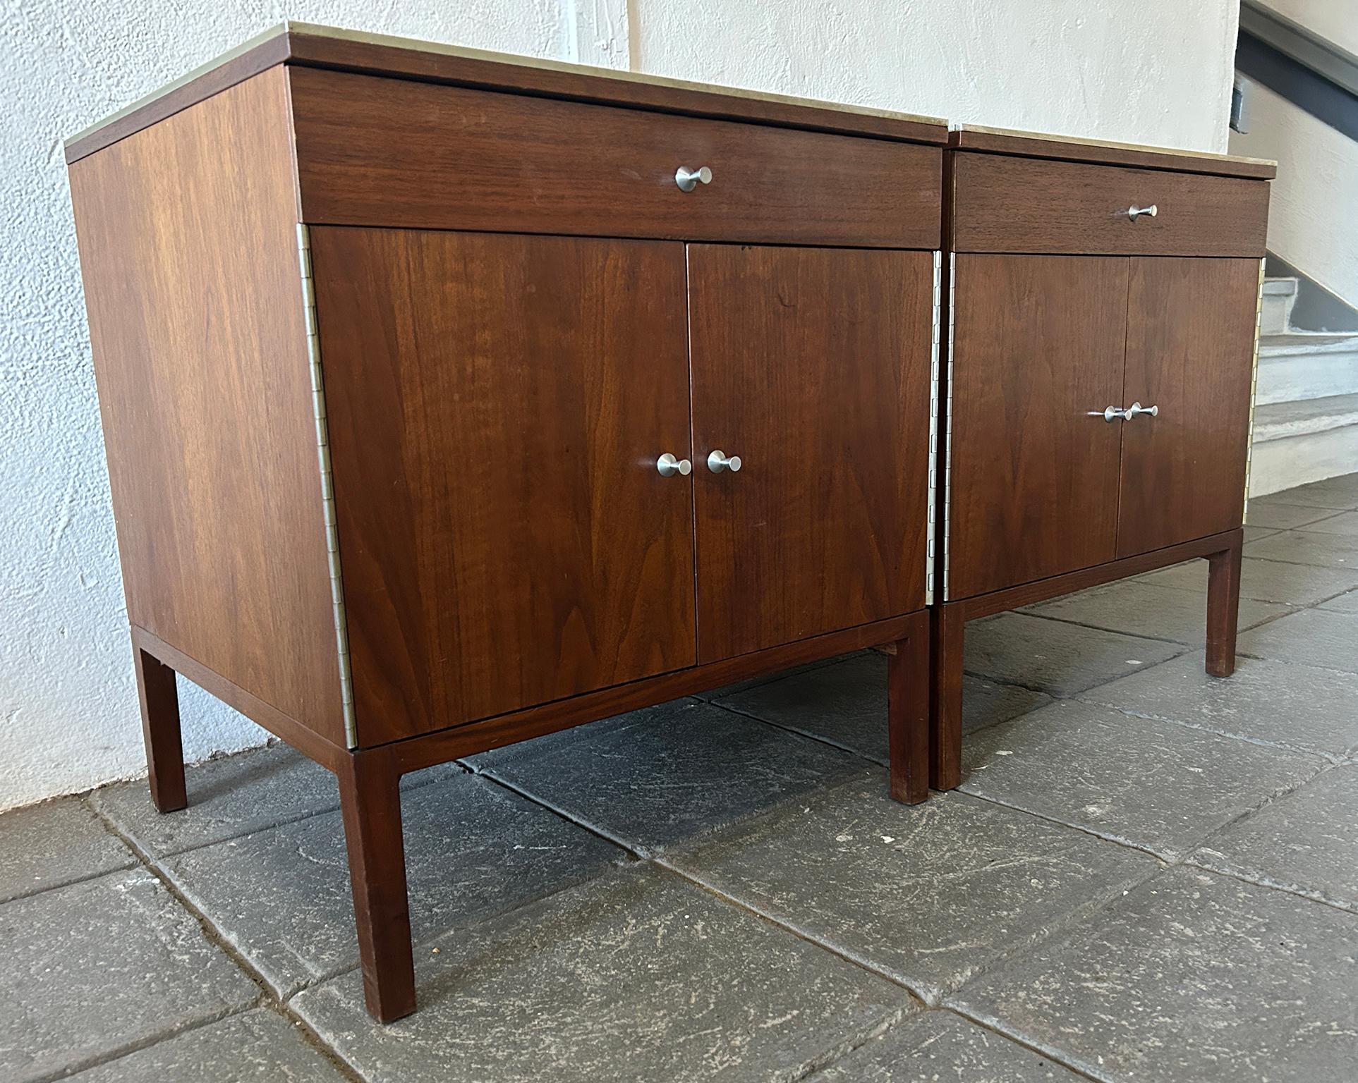
{"label": "left walnut door of the nearer cabinet, below its drawer", "polygon": [[311,251],[360,744],[693,665],[683,246]]}

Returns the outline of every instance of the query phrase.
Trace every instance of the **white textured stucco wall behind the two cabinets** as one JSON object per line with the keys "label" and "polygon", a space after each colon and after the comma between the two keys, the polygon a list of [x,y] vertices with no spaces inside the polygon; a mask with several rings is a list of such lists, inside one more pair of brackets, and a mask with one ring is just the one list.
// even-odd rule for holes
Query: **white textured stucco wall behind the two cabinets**
{"label": "white textured stucco wall behind the two cabinets", "polygon": [[[0,12],[0,809],[144,771],[61,140],[284,18],[1225,148],[1233,0],[15,0]],[[263,740],[181,685],[186,753]]]}

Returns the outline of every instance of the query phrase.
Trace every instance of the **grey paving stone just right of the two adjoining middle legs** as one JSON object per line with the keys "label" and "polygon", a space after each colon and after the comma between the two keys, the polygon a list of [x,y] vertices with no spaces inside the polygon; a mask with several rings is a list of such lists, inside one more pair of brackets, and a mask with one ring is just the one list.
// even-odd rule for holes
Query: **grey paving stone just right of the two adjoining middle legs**
{"label": "grey paving stone just right of the two adjoining middle legs", "polygon": [[961,788],[1175,859],[1323,764],[1067,700],[976,734]]}

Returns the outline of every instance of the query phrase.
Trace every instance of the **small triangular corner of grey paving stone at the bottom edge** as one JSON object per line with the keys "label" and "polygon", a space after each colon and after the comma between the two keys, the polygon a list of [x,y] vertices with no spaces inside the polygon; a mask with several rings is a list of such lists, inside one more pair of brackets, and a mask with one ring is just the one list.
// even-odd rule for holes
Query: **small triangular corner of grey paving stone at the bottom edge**
{"label": "small triangular corner of grey paving stone at the bottom edge", "polygon": [[1084,1076],[951,1011],[911,1015],[807,1083],[1081,1083]]}

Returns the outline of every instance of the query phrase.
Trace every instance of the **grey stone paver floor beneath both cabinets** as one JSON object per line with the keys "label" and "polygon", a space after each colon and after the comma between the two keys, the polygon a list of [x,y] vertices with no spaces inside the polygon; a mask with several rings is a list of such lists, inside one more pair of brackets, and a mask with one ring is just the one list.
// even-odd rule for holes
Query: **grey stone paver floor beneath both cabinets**
{"label": "grey stone paver floor beneath both cabinets", "polygon": [[0,1079],[1358,1080],[1358,475],[1206,566],[976,622],[964,782],[854,654],[405,783],[420,1011],[363,1010],[282,746],[0,817]]}

